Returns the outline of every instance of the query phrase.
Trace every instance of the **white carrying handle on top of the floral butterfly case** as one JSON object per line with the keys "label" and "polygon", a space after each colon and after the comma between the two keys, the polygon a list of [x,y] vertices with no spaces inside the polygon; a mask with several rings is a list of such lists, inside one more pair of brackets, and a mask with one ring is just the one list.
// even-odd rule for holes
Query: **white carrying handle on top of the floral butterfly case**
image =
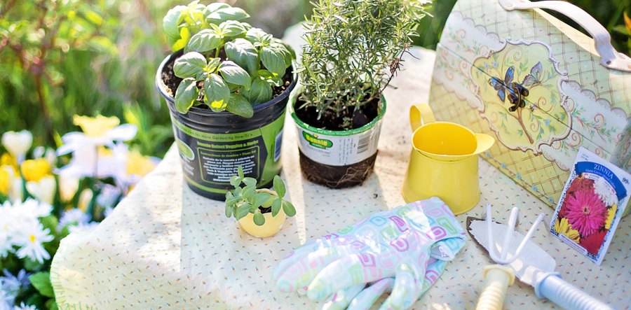
{"label": "white carrying handle on top of the floral butterfly case", "polygon": [[564,1],[538,1],[529,2],[526,0],[498,0],[500,6],[505,10],[527,10],[530,8],[547,8],[555,10],[587,30],[594,38],[596,50],[603,66],[609,69],[631,72],[631,58],[617,52],[611,45],[611,35],[597,20],[574,4]]}

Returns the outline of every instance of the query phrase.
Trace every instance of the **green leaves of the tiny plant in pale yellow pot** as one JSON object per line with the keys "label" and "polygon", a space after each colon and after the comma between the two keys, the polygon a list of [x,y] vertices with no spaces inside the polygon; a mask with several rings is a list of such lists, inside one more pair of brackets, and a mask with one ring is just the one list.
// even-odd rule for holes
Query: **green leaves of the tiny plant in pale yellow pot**
{"label": "green leaves of the tiny plant in pale yellow pot", "polygon": [[[241,187],[241,184],[245,187]],[[267,190],[257,190],[257,180],[255,178],[245,177],[243,169],[238,167],[238,175],[230,178],[230,184],[234,186],[232,192],[226,192],[226,217],[234,216],[236,220],[252,213],[256,225],[265,224],[265,218],[261,212],[263,209],[271,208],[272,216],[276,216],[283,208],[287,216],[296,215],[294,206],[283,199],[287,190],[285,183],[280,176],[274,176],[273,187],[276,195],[272,195]]]}

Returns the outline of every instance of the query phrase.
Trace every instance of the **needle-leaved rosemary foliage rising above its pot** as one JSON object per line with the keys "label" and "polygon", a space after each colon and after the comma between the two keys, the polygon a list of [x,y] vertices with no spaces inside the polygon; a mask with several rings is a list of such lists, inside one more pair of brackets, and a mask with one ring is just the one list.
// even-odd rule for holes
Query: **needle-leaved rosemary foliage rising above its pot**
{"label": "needle-leaved rosemary foliage rising above its pot", "polygon": [[[315,106],[318,119],[330,111],[335,117],[350,113],[379,98],[399,69],[426,15],[428,1],[320,0],[307,20],[302,52],[301,100]],[[354,109],[352,108],[354,107]],[[345,128],[351,129],[351,128]]]}

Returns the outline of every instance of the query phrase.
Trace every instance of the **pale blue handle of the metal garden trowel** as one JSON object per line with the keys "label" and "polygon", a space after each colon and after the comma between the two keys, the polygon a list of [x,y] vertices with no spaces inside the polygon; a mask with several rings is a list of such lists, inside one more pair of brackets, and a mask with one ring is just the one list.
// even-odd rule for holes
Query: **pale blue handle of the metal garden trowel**
{"label": "pale blue handle of the metal garden trowel", "polygon": [[537,297],[545,297],[558,304],[563,309],[568,310],[613,310],[613,308],[603,304],[599,300],[591,297],[567,283],[557,273],[545,274],[535,284],[535,294]]}

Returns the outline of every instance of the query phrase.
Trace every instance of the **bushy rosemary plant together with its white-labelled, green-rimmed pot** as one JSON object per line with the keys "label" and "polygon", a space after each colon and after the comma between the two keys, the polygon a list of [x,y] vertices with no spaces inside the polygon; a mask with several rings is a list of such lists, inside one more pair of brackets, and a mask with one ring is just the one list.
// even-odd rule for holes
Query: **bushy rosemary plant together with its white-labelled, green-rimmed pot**
{"label": "bushy rosemary plant together with its white-labelled, green-rimmed pot", "polygon": [[305,178],[329,188],[360,185],[374,167],[385,87],[408,52],[426,6],[414,0],[314,3],[290,105]]}

